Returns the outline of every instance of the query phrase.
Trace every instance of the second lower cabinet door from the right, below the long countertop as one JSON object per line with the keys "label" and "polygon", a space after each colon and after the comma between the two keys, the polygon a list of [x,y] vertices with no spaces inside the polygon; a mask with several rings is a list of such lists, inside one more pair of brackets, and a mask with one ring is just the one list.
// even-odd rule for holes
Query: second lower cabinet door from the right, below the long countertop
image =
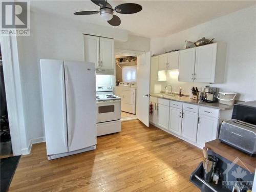
{"label": "second lower cabinet door from the right, below the long countertop", "polygon": [[196,142],[197,141],[198,113],[183,111],[181,136]]}

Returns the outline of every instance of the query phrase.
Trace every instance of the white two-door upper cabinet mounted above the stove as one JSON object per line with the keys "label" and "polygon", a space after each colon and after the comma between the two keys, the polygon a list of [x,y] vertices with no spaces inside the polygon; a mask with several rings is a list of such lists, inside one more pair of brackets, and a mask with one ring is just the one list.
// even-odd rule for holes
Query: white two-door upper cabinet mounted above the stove
{"label": "white two-door upper cabinet mounted above the stove", "polygon": [[94,62],[96,69],[114,72],[114,39],[84,35],[84,61]]}

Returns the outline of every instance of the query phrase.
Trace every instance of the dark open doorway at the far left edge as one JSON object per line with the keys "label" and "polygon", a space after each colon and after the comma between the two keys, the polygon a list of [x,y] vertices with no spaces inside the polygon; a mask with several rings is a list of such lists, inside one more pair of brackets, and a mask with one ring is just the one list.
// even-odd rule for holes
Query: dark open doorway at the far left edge
{"label": "dark open doorway at the far left edge", "polygon": [[0,45],[0,158],[12,156],[11,134],[7,112],[7,101],[5,92],[5,81],[3,71],[2,51]]}

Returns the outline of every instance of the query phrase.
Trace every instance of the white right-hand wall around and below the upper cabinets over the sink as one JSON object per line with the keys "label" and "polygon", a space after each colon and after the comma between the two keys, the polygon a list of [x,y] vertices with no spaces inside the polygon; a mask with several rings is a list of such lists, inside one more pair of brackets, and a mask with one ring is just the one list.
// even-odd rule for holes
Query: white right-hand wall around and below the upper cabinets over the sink
{"label": "white right-hand wall around and below the upper cabinets over the sink", "polygon": [[[167,37],[151,39],[152,53],[162,54],[173,49],[182,49],[184,40],[197,41],[205,36],[215,41],[227,42],[225,82],[212,84],[221,90],[238,92],[238,100],[256,100],[256,6],[242,9],[204,24],[189,28]],[[182,87],[188,94],[191,86],[204,87],[204,83],[178,82],[178,78],[167,75],[164,85]]]}

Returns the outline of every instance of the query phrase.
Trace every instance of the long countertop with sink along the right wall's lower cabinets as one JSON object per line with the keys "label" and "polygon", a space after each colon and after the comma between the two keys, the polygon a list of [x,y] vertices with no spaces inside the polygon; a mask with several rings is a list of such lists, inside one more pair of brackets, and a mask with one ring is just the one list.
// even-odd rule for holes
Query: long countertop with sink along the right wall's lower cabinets
{"label": "long countertop with sink along the right wall's lower cabinets", "polygon": [[197,100],[189,99],[189,97],[187,97],[187,96],[180,97],[180,96],[166,95],[166,94],[162,94],[162,93],[151,93],[150,95],[152,97],[157,97],[157,98],[181,101],[181,102],[190,103],[190,104],[197,104],[200,106],[207,106],[208,108],[215,108],[218,110],[232,110],[233,109],[233,106],[220,104],[219,102],[207,103],[204,101],[197,101]]}

